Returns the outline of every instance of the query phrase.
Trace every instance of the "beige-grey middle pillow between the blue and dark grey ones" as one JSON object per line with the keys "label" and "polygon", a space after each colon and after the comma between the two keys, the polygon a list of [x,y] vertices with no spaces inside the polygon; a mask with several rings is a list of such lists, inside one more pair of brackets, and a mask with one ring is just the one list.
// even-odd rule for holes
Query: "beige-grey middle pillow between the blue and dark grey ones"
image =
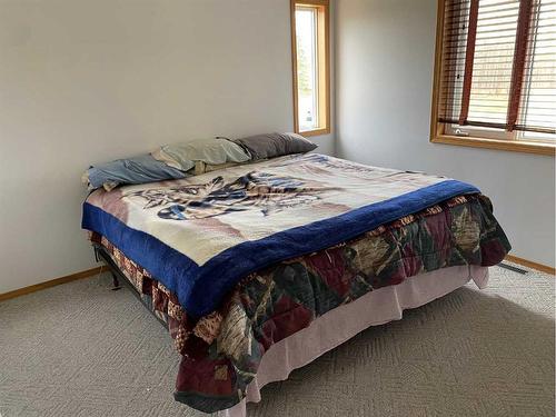
{"label": "beige-grey middle pillow between the blue and dark grey ones", "polygon": [[152,156],[166,165],[187,171],[195,161],[208,165],[246,162],[250,156],[239,145],[225,138],[195,140],[178,145],[165,145]]}

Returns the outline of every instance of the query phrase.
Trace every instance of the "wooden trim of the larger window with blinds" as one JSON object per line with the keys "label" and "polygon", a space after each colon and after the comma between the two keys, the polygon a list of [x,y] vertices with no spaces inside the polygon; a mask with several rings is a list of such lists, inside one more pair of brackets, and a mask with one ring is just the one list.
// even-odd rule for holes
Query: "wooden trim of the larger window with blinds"
{"label": "wooden trim of the larger window with blinds", "polygon": [[504,140],[488,139],[481,137],[460,137],[445,133],[444,123],[437,121],[438,107],[440,100],[441,75],[441,51],[444,36],[444,7],[445,0],[438,0],[437,21],[436,21],[436,50],[435,50],[435,70],[433,80],[433,105],[430,112],[430,142],[455,145],[483,149],[506,150],[513,152],[535,153],[554,157],[556,153],[556,143],[543,142],[536,140]]}

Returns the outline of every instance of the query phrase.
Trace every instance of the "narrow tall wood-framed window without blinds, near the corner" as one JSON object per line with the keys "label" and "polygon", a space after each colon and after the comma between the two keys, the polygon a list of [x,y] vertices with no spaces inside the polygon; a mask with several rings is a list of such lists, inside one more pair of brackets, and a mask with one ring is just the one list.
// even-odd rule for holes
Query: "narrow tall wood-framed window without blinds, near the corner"
{"label": "narrow tall wood-framed window without blinds, near the corner", "polygon": [[330,132],[328,0],[291,0],[294,125],[305,136]]}

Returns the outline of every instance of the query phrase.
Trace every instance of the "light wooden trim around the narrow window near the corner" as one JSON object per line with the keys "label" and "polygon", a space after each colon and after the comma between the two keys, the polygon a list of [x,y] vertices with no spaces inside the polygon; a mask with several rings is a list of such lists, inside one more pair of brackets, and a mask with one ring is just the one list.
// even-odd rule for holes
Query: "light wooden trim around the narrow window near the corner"
{"label": "light wooden trim around the narrow window near the corner", "polygon": [[[318,56],[318,120],[319,128],[299,130],[298,97],[297,97],[297,40],[296,40],[296,6],[319,8],[318,33],[324,36],[317,40]],[[302,136],[320,136],[330,133],[330,6],[329,0],[290,0],[291,22],[291,72],[294,79],[294,130]]]}

